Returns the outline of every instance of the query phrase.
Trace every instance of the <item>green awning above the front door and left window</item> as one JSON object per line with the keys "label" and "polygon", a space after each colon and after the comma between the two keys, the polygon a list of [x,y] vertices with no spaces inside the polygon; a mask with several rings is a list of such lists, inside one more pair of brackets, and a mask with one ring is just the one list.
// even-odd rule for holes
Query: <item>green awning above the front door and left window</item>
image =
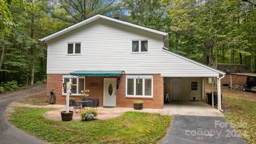
{"label": "green awning above the front door and left window", "polygon": [[120,76],[122,73],[121,70],[114,70],[114,71],[109,71],[109,70],[78,70],[78,71],[73,71],[69,73],[71,76]]}

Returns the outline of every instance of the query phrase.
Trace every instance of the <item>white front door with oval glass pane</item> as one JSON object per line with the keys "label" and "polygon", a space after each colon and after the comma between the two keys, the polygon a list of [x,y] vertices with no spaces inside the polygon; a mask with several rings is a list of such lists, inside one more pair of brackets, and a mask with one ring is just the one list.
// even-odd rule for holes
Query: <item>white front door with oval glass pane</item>
{"label": "white front door with oval glass pane", "polygon": [[116,106],[116,78],[104,78],[104,102],[105,107]]}

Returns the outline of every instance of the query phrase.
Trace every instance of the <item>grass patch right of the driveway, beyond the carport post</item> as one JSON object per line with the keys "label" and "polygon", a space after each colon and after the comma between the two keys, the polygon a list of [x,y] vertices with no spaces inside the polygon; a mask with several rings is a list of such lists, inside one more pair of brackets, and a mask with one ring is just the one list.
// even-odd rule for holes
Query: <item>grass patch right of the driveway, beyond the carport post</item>
{"label": "grass patch right of the driveway, beyond the carport post", "polygon": [[225,118],[247,143],[256,143],[256,101],[223,97]]}

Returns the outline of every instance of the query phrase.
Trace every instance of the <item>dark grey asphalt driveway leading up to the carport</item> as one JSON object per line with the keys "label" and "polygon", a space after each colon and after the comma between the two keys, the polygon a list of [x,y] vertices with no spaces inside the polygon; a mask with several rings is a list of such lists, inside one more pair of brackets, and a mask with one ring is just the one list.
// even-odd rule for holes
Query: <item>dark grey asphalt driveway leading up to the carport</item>
{"label": "dark grey asphalt driveway leading up to the carport", "polygon": [[159,143],[246,143],[223,117],[174,115]]}

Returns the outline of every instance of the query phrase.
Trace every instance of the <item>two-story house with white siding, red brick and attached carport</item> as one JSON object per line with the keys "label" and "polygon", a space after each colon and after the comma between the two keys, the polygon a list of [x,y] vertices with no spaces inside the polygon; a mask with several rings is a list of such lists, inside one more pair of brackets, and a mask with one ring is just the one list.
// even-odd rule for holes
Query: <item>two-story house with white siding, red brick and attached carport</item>
{"label": "two-story house with white siding, red brick and attached carport", "polygon": [[100,106],[142,100],[144,108],[161,109],[167,93],[172,101],[203,101],[203,78],[225,74],[170,52],[168,33],[100,14],[40,40],[48,46],[47,92],[55,91],[57,104],[66,103],[69,78],[77,84],[73,99],[90,90]]}

